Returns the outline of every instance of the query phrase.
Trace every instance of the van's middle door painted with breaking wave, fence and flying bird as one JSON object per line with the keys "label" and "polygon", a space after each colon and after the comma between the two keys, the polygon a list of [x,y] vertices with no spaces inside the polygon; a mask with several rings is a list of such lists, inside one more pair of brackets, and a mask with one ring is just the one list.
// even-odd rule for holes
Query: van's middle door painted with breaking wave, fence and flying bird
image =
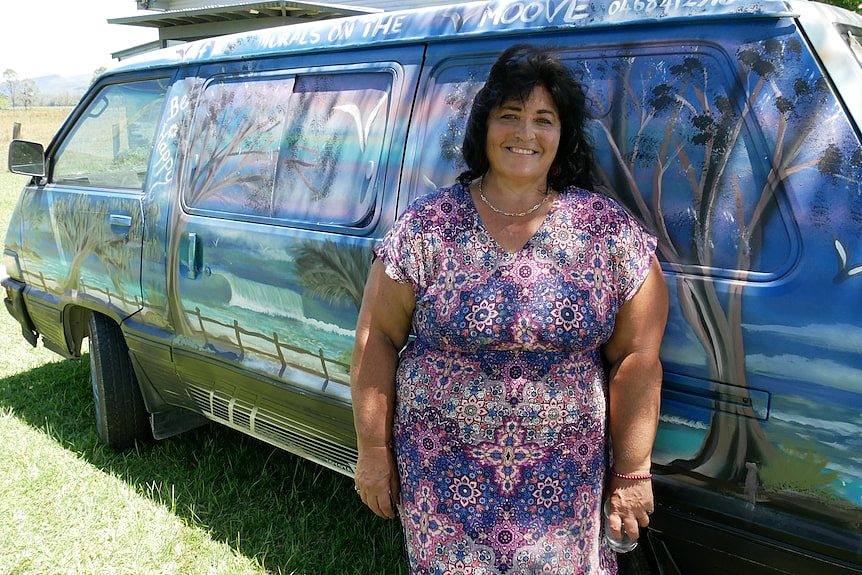
{"label": "van's middle door painted with breaking wave, fence and flying bird", "polygon": [[421,56],[205,65],[194,97],[169,248],[177,370],[208,417],[341,471],[353,330]]}

